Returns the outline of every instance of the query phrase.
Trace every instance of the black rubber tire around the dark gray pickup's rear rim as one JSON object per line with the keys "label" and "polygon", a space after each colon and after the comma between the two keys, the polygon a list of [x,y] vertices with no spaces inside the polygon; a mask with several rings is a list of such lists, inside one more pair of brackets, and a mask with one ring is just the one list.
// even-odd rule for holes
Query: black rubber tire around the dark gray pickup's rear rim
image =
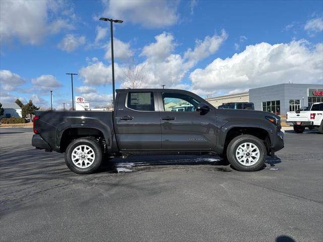
{"label": "black rubber tire around the dark gray pickup's rear rim", "polygon": [[[72,161],[72,152],[74,151],[74,149],[76,149],[78,146],[86,146],[87,148],[90,147],[92,149],[92,151],[90,150],[89,152],[91,152],[91,154],[94,153],[94,159],[90,159],[89,158],[85,158],[86,162],[85,163],[85,159],[84,161],[80,161],[80,159],[76,158],[77,160],[75,162],[80,162],[79,165],[83,166],[82,167],[78,167],[76,164],[74,164],[74,162]],[[85,150],[83,150],[85,151]],[[86,152],[82,153],[82,149],[81,149],[81,154],[85,156]],[[80,154],[80,153],[77,153]],[[75,155],[77,156],[77,155]],[[81,157],[81,156],[79,156]],[[65,162],[66,165],[70,168],[71,171],[77,173],[77,174],[90,174],[90,173],[94,173],[101,165],[102,162],[102,158],[103,158],[103,153],[102,153],[102,149],[100,144],[98,144],[95,140],[90,139],[90,138],[79,138],[76,139],[74,141],[72,141],[69,146],[66,148],[66,152],[65,152]],[[89,164],[89,162],[91,162],[91,164]],[[89,165],[88,167],[85,167],[86,165]]]}

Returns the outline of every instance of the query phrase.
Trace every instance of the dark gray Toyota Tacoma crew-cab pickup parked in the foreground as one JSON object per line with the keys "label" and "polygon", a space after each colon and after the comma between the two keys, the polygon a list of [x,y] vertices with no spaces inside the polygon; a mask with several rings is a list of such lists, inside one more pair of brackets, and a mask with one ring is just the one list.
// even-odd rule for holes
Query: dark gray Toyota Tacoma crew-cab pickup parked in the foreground
{"label": "dark gray Toyota Tacoma crew-cab pickup parked in the foreground", "polygon": [[78,174],[109,157],[156,154],[220,155],[237,170],[256,171],[284,147],[280,117],[270,112],[217,109],[184,90],[116,92],[114,111],[36,111],[32,145],[65,152]]}

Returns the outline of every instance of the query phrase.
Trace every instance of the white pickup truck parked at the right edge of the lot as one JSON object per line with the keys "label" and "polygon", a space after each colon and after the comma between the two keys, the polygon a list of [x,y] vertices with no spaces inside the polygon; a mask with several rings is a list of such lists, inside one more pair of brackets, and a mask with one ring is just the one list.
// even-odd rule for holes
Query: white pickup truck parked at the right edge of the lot
{"label": "white pickup truck parked at the right edge of the lot", "polygon": [[323,102],[313,103],[309,111],[287,112],[286,124],[293,126],[295,133],[318,128],[318,133],[323,134]]}

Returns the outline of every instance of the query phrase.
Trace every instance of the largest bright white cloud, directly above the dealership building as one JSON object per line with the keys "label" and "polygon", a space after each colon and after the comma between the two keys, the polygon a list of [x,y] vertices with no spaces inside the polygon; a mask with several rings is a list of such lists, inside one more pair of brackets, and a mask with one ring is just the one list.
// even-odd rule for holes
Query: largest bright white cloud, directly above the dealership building
{"label": "largest bright white cloud, directly above the dealership building", "polygon": [[322,83],[323,44],[305,40],[249,45],[226,59],[214,59],[190,74],[192,88],[205,91],[249,89],[280,83]]}

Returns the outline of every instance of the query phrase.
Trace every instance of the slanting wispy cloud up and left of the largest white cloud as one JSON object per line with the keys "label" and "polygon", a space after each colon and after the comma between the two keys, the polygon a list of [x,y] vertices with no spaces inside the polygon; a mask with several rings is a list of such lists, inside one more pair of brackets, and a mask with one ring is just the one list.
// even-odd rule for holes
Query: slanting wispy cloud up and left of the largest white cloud
{"label": "slanting wispy cloud up and left of the largest white cloud", "polygon": [[196,40],[195,48],[192,51],[190,48],[185,52],[184,57],[192,63],[197,63],[201,59],[214,54],[220,45],[228,38],[225,30],[221,31],[221,35],[206,36],[204,41]]}

